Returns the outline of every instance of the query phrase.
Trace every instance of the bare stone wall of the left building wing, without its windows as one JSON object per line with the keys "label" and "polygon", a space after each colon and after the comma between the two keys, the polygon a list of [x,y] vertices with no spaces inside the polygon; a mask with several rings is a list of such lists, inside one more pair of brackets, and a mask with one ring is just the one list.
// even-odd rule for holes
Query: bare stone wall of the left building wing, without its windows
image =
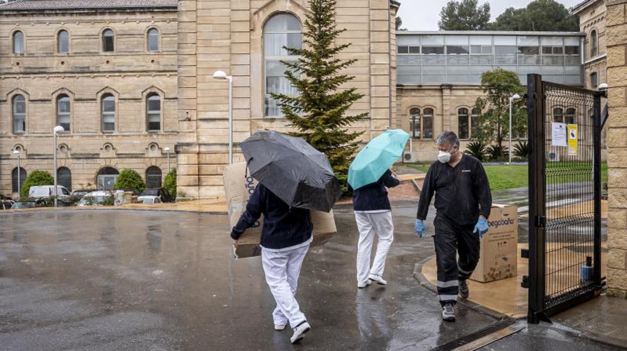
{"label": "bare stone wall of the left building wing, without its windows", "polygon": [[[11,193],[12,151],[21,150],[27,172],[53,172],[52,129],[56,99],[70,97],[70,131],[60,134],[59,167],[72,172],[73,188],[94,186],[105,165],[135,169],[145,176],[156,165],[167,172],[165,147],[184,142],[177,118],[176,9],[154,11],[32,11],[0,19],[0,194]],[[115,33],[115,51],[103,53],[101,34]],[[149,52],[148,29],[159,30],[159,51]],[[56,33],[70,34],[70,52],[56,52]],[[11,33],[25,37],[24,55],[13,55]],[[18,65],[19,63],[19,65]],[[101,98],[116,100],[115,130],[103,132]],[[161,130],[147,132],[146,98],[161,98]],[[26,132],[13,132],[15,95],[26,98]]]}

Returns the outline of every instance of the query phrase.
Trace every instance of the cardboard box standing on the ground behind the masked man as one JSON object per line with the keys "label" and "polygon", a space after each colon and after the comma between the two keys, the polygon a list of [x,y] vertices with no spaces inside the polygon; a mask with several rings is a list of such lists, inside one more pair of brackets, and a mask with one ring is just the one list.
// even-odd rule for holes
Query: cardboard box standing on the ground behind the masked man
{"label": "cardboard box standing on the ground behind the masked man", "polygon": [[470,279],[487,283],[516,276],[517,263],[518,208],[493,204],[479,263]]}

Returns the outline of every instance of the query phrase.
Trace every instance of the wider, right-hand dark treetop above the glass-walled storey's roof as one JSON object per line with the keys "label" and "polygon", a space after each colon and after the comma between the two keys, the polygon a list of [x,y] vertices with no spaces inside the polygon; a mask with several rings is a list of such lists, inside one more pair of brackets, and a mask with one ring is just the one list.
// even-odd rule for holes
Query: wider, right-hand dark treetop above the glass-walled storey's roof
{"label": "wider, right-hand dark treetop above the glass-walled storey's roof", "polygon": [[506,9],[488,29],[495,31],[579,31],[579,16],[554,0],[535,0],[526,8]]}

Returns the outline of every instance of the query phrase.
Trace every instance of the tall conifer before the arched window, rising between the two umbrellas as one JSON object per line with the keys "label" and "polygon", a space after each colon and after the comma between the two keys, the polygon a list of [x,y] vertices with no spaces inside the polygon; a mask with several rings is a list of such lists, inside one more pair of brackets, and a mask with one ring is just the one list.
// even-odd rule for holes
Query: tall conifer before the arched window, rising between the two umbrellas
{"label": "tall conifer before the arched window, rising between the two umbrellas", "polygon": [[350,132],[347,127],[368,116],[349,115],[354,102],[364,97],[357,88],[340,88],[354,76],[341,71],[357,60],[340,60],[338,54],[350,44],[334,45],[346,29],[337,29],[335,0],[309,0],[310,13],[305,20],[303,48],[285,48],[298,61],[282,61],[286,78],[297,96],[272,94],[284,117],[295,128],[292,135],[302,137],[329,157],[335,175],[345,186],[350,162],[364,132]]}

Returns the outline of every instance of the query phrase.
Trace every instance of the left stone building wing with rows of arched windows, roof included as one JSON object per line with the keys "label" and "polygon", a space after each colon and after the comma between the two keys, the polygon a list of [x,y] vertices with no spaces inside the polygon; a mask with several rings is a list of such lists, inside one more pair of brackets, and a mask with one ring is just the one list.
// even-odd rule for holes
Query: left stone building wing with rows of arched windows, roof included
{"label": "left stone building wing with rows of arched windows, roof included", "polygon": [[[135,169],[152,184],[164,149],[186,140],[177,117],[177,2],[14,1],[0,6],[0,194],[55,169],[71,189],[110,186]],[[98,184],[98,183],[102,184]]]}

